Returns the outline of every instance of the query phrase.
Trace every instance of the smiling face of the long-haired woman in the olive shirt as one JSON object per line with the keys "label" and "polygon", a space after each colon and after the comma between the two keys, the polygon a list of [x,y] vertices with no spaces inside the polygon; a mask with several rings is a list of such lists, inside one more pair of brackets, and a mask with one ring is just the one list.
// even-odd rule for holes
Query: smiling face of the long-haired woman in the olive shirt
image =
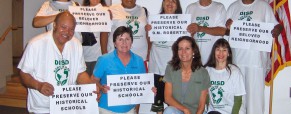
{"label": "smiling face of the long-haired woman in the olive shirt", "polygon": [[182,40],[178,44],[178,56],[180,61],[183,62],[189,62],[192,63],[192,59],[194,56],[194,51],[191,47],[191,42],[187,40]]}

